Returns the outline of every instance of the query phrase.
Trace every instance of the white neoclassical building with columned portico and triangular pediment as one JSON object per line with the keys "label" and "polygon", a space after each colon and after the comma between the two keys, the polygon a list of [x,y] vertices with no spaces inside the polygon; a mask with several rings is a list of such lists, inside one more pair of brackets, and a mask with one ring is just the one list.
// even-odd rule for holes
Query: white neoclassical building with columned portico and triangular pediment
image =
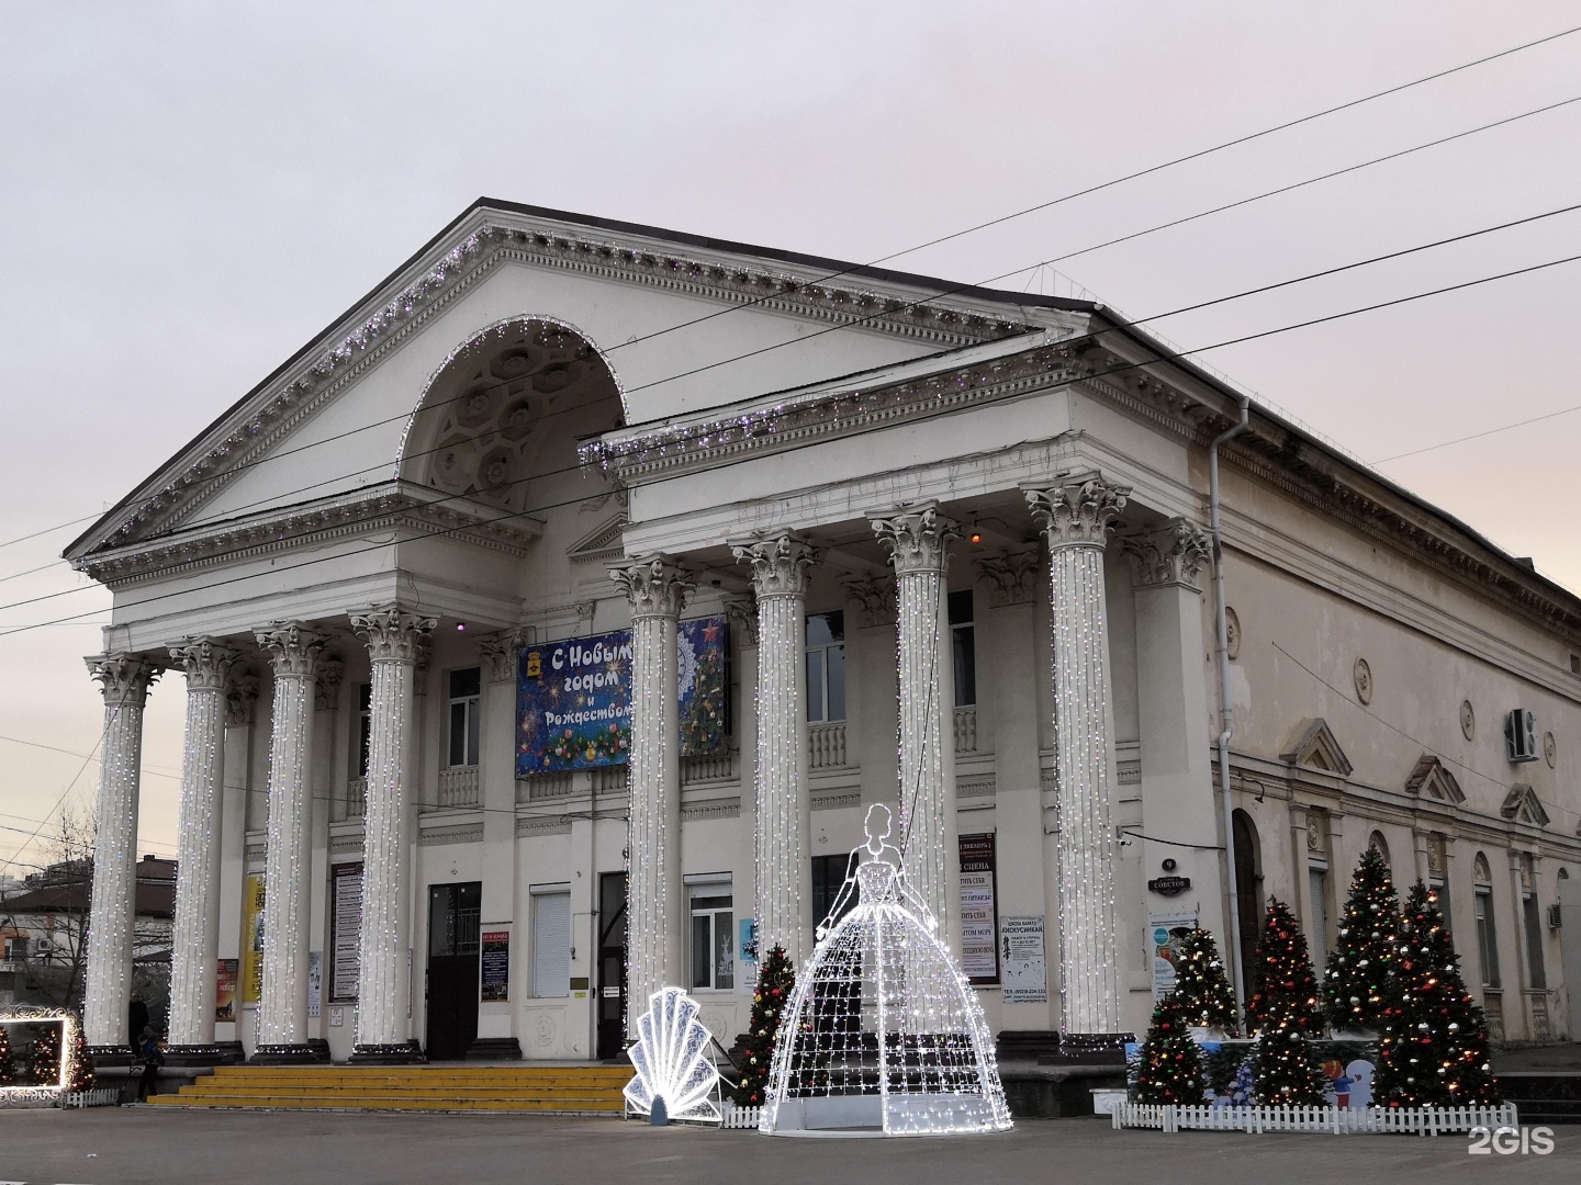
{"label": "white neoclassical building with columned portico and triangular pediment", "polygon": [[1379,845],[1575,1035],[1581,600],[1096,303],[481,201],[68,556],[98,1048],[161,672],[199,1059],[612,1055],[669,983],[729,1043],[871,803],[996,1032],[1274,896],[1322,953]]}

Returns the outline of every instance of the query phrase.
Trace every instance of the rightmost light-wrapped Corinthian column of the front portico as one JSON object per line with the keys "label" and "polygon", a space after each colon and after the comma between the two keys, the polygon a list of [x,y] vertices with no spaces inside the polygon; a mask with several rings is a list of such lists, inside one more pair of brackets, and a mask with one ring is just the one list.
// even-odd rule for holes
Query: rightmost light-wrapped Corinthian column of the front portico
{"label": "rightmost light-wrapped Corinthian column of the front portico", "polygon": [[1088,1044],[1108,1046],[1121,1032],[1121,959],[1115,934],[1104,544],[1130,490],[1088,472],[1024,493],[1051,561],[1061,1027],[1066,1035],[1097,1038]]}

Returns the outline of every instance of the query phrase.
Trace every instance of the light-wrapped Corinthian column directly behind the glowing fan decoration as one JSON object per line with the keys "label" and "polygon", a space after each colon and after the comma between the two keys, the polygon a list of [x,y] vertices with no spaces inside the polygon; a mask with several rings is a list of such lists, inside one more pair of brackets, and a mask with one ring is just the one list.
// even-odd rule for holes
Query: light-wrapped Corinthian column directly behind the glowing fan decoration
{"label": "light-wrapped Corinthian column directly behind the glowing fan decoration", "polygon": [[681,757],[675,626],[692,585],[669,558],[610,569],[631,602],[631,822],[626,875],[626,1006],[642,1011],[686,978]]}

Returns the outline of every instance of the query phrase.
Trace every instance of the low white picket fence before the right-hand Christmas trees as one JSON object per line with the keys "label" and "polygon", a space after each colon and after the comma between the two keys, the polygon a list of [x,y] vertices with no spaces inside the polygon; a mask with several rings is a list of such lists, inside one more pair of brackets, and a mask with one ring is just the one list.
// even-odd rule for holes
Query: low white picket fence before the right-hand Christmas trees
{"label": "low white picket fence before the right-hand Christmas trees", "polygon": [[1113,1125],[1160,1131],[1317,1131],[1345,1136],[1355,1133],[1404,1133],[1439,1136],[1472,1128],[1513,1128],[1519,1119],[1515,1103],[1497,1108],[1216,1108],[1173,1106],[1165,1103],[1119,1103]]}

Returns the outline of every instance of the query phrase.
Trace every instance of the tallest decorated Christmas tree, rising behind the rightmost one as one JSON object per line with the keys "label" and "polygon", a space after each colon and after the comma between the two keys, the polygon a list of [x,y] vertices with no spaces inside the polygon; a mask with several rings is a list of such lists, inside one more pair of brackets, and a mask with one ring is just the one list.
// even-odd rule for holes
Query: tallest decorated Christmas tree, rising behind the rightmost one
{"label": "tallest decorated Christmas tree, rising behind the rightmost one", "polygon": [[1399,901],[1382,853],[1369,847],[1356,863],[1323,976],[1323,999],[1334,1029],[1377,1029],[1394,976]]}

